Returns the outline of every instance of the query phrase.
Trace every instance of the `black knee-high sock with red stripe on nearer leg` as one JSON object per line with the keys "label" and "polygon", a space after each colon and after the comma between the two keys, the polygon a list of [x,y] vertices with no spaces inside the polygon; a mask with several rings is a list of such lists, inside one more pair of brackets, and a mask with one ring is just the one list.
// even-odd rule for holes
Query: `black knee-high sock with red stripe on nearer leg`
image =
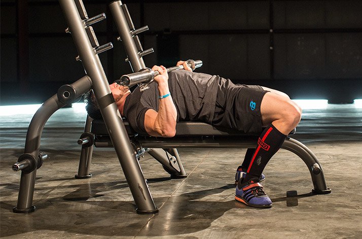
{"label": "black knee-high sock with red stripe on nearer leg", "polygon": [[259,178],[270,158],[280,149],[286,135],[282,134],[274,125],[270,124],[260,135],[257,149],[247,168],[245,179]]}

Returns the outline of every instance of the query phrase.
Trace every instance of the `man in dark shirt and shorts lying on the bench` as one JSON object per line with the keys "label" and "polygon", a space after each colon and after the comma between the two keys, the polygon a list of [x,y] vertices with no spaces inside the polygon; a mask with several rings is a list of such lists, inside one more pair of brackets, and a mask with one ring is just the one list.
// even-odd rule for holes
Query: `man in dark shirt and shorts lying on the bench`
{"label": "man in dark shirt and shorts lying on the bench", "polygon": [[[262,86],[233,84],[229,79],[194,73],[186,61],[184,69],[169,74],[155,65],[160,74],[141,91],[110,85],[118,109],[139,133],[172,137],[177,121],[201,121],[245,133],[260,135],[256,149],[248,149],[236,173],[235,199],[251,207],[270,208],[272,201],[260,181],[270,158],[279,150],[286,135],[300,122],[301,108],[286,94]],[[90,117],[101,118],[94,97],[86,98]],[[266,128],[265,128],[266,127]],[[263,130],[263,128],[265,128]]]}

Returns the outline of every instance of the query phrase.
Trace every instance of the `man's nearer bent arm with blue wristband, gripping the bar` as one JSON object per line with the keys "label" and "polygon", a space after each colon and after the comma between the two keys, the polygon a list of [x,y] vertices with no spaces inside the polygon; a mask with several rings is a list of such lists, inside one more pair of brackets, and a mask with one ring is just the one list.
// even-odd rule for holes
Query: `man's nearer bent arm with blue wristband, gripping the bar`
{"label": "man's nearer bent arm with blue wristband, gripping the bar", "polygon": [[[154,81],[158,84],[160,92],[160,105],[158,112],[150,109],[144,115],[144,128],[152,136],[173,137],[176,133],[177,111],[173,104],[172,96],[168,95],[168,74],[164,66],[154,66],[153,71],[158,71]],[[168,96],[167,96],[168,95]]]}

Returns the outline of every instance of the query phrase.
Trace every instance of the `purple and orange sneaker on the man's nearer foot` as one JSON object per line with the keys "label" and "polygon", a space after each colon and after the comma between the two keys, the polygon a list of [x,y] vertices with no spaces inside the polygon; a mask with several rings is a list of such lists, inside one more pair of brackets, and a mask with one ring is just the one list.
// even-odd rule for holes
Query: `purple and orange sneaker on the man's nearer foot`
{"label": "purple and orange sneaker on the man's nearer foot", "polygon": [[241,183],[236,187],[235,200],[242,202],[250,207],[271,208],[272,201],[263,191],[263,186],[258,178],[250,179],[246,184]]}

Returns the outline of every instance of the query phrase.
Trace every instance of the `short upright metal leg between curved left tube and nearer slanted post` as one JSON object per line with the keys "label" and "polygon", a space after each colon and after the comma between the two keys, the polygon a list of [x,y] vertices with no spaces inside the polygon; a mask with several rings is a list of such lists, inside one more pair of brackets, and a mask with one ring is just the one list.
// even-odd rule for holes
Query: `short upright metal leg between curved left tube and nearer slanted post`
{"label": "short upright metal leg between curved left tube and nearer slanted post", "polygon": [[[89,115],[87,115],[86,123],[84,125],[85,133],[90,132],[92,120],[93,119]],[[76,179],[89,179],[92,177],[92,174],[90,173],[92,155],[93,155],[93,145],[91,146],[82,145],[78,174],[75,176]]]}

